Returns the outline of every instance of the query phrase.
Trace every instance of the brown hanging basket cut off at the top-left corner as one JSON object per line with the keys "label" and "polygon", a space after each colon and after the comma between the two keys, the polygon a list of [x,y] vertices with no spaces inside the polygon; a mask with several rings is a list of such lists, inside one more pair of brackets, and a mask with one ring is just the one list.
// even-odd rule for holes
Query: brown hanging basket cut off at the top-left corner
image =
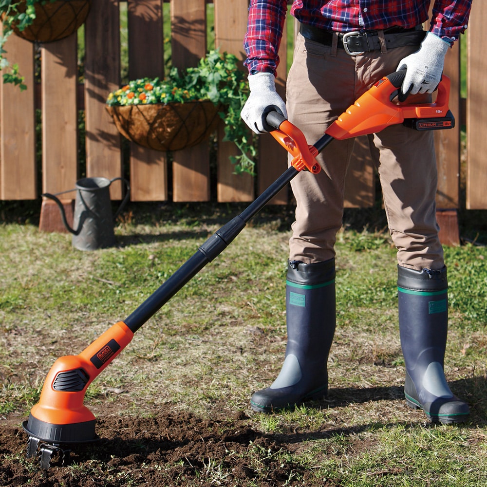
{"label": "brown hanging basket cut off at the top-left corner", "polygon": [[[13,31],[24,39],[37,42],[52,42],[68,37],[84,23],[90,11],[92,0],[37,1],[34,4],[36,18],[31,25],[19,30],[14,22]],[[25,12],[25,0],[17,7]]]}

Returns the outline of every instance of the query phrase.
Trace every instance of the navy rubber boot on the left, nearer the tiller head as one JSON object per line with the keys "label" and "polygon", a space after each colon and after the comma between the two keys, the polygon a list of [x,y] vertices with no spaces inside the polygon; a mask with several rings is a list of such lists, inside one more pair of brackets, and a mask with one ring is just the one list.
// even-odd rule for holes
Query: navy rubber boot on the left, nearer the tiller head
{"label": "navy rubber boot on the left, nearer the tiller head", "polygon": [[285,359],[272,385],[252,395],[254,411],[293,409],[307,399],[326,396],[335,322],[335,259],[288,262]]}

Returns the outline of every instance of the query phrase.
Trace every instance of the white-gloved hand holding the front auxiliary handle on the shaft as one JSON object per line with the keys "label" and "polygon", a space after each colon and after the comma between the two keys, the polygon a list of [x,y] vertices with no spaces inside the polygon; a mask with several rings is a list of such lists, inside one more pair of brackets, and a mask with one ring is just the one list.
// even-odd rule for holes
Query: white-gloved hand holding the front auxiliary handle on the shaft
{"label": "white-gloved hand holding the front auxiliary handle on the shaft", "polygon": [[263,133],[267,130],[262,122],[264,110],[272,106],[275,112],[287,118],[286,105],[281,96],[276,92],[276,84],[272,73],[256,73],[249,75],[248,86],[250,95],[245,102],[240,116],[255,133]]}

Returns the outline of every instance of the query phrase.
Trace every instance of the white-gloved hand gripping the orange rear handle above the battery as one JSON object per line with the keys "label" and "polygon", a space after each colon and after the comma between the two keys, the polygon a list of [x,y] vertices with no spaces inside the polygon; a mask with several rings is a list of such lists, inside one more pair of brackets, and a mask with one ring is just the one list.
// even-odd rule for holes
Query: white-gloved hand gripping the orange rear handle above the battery
{"label": "white-gloved hand gripping the orange rear handle above the battery", "polygon": [[450,44],[431,32],[421,42],[420,48],[399,62],[397,70],[406,69],[401,92],[411,94],[433,93],[441,80],[445,55]]}

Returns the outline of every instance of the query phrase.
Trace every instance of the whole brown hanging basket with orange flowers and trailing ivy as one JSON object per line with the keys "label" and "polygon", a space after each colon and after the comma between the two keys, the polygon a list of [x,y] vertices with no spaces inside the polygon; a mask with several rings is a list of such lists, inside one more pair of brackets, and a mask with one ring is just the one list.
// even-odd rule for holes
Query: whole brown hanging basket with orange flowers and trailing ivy
{"label": "whole brown hanging basket with orange flowers and trailing ivy", "polygon": [[139,78],[108,94],[107,111],[118,131],[144,147],[180,150],[203,142],[224,126],[237,173],[253,174],[256,139],[240,116],[248,83],[236,56],[210,51],[195,67],[172,67],[164,78]]}

